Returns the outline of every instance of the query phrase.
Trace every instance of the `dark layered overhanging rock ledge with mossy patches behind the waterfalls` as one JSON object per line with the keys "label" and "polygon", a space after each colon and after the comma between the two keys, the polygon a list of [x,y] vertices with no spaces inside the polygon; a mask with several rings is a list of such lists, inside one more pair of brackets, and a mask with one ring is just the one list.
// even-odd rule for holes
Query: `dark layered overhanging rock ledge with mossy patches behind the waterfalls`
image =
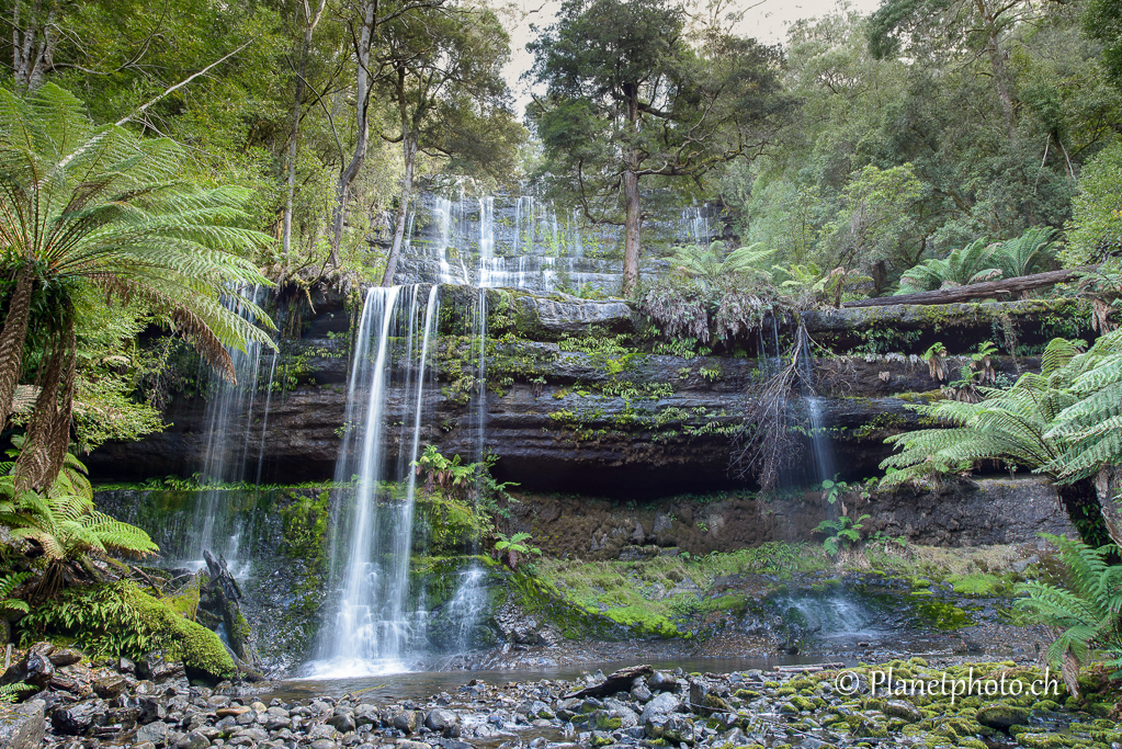
{"label": "dark layered overhanging rock ledge with mossy patches behind the waterfalls", "polygon": [[[444,454],[465,456],[475,455],[478,449],[479,409],[468,403],[472,388],[466,386],[476,374],[476,364],[466,354],[466,335],[480,294],[487,296],[495,317],[487,358],[489,387],[481,410],[486,449],[499,457],[496,471],[500,480],[519,482],[531,490],[627,498],[746,486],[729,474],[729,456],[734,435],[742,426],[738,415],[744,394],[762,378],[760,361],[732,355],[681,358],[561,350],[558,342],[572,348],[573,336],[634,333],[633,311],[620,300],[442,287],[438,382],[426,392],[424,443],[435,444]],[[284,387],[279,391],[274,388],[272,396],[258,396],[251,412],[254,423],[233,425],[247,435],[250,445],[245,451],[247,477],[260,475],[264,482],[333,478],[350,355],[347,336],[339,334],[348,331],[349,320],[341,299],[318,297],[315,303],[316,313],[307,322],[304,337],[284,344],[277,370]],[[953,351],[966,352],[976,341],[993,337],[992,326],[1004,324],[1002,321],[1011,321],[1020,331],[1014,334],[1039,334],[1032,327],[1037,325],[1033,315],[1046,312],[1047,305],[1018,302],[825,311],[807,313],[803,320],[808,330],[835,351],[850,350],[868,331],[899,327],[903,333],[930,333],[948,345],[954,343]],[[517,334],[516,342],[500,340],[511,332]],[[913,340],[895,343],[911,353],[848,355],[819,362],[821,417],[843,479],[877,472],[879,463],[891,452],[884,437],[920,423],[908,404],[922,401],[923,394],[940,386],[917,355],[922,349],[917,349]],[[774,351],[767,353],[773,355]],[[263,357],[266,369],[268,359]],[[995,361],[999,373],[1009,379],[1039,367],[1037,360],[1027,358]],[[964,362],[951,358],[948,370],[956,372]],[[263,381],[267,376],[268,371],[260,373]],[[401,371],[392,381],[404,379]],[[261,434],[266,400],[268,428]],[[404,388],[390,387],[387,400],[386,419],[405,422],[412,404],[405,403]],[[205,457],[210,429],[205,406],[202,398],[177,400],[166,415],[172,426],[163,434],[139,443],[99,447],[86,461],[92,475],[108,481],[194,473]],[[795,401],[791,408],[804,412],[807,407]],[[388,432],[390,455],[385,464],[394,465],[402,435],[398,429]],[[804,480],[808,478],[799,481],[812,483]]]}

